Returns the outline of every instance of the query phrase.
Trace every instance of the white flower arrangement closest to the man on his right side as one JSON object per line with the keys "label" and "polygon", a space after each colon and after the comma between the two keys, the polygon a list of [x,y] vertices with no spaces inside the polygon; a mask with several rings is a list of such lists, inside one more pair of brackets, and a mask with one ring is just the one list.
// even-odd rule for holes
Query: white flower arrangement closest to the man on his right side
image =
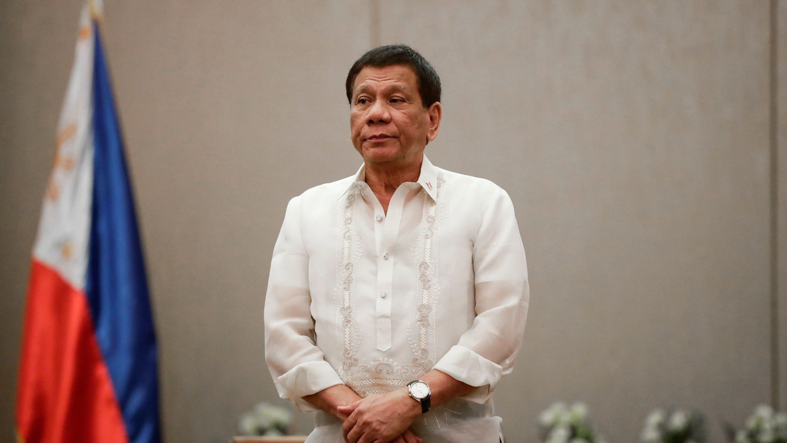
{"label": "white flower arrangement closest to the man on his right side", "polygon": [[557,401],[538,415],[545,443],[606,443],[587,419],[587,406],[577,401],[568,407]]}

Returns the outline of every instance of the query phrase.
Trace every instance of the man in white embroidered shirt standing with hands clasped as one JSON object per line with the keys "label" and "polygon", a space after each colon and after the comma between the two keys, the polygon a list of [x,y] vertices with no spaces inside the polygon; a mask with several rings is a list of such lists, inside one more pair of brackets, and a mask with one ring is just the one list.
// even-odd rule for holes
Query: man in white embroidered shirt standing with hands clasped
{"label": "man in white embroidered shirt standing with hands clasped", "polygon": [[491,393],[530,300],[508,194],[438,168],[440,78],[405,45],[345,84],[354,176],[290,200],[265,298],[276,389],[316,411],[309,443],[497,443]]}

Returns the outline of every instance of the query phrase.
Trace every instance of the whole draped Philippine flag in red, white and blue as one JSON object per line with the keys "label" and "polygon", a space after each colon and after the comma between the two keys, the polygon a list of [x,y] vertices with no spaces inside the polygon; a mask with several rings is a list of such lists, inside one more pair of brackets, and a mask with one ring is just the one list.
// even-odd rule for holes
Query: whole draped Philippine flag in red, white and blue
{"label": "whole draped Philippine flag in red, white and blue", "polygon": [[159,441],[156,337],[101,17],[100,0],[84,6],[33,248],[20,443]]}

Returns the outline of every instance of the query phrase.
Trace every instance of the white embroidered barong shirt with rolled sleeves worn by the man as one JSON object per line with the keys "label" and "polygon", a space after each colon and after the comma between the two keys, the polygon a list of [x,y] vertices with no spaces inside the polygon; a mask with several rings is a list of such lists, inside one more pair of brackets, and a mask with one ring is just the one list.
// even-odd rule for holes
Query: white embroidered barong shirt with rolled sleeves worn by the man
{"label": "white embroidered barong shirt with rolled sleeves worn by the man", "polygon": [[307,441],[340,443],[342,423],[301,396],[339,384],[386,393],[438,369],[478,388],[420,415],[415,434],[497,443],[491,394],[512,371],[530,300],[511,199],[424,156],[386,214],[364,177],[362,165],[287,205],[264,307],[279,396],[317,411]]}

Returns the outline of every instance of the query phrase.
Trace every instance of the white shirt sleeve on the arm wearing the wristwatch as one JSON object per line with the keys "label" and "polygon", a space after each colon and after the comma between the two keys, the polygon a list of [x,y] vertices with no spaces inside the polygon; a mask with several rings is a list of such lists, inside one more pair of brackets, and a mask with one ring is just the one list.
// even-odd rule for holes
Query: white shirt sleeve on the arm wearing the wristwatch
{"label": "white shirt sleeve on the arm wearing the wristwatch", "polygon": [[478,229],[473,270],[476,317],[434,369],[478,386],[463,398],[483,403],[513,370],[530,302],[525,250],[511,198],[501,188],[495,188]]}

